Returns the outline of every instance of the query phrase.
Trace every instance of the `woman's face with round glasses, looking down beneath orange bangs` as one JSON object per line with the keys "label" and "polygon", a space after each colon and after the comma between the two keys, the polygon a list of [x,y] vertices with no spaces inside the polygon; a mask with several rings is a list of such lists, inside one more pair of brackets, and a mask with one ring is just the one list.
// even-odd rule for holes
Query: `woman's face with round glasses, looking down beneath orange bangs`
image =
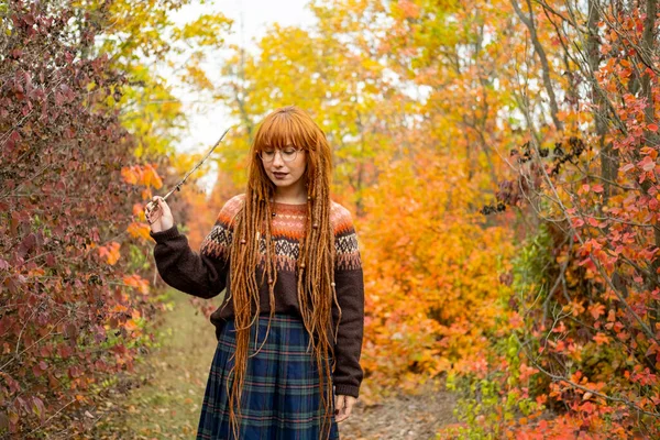
{"label": "woman's face with round glasses, looking down beneath orange bangs", "polygon": [[268,178],[278,188],[304,186],[301,177],[307,166],[305,150],[287,145],[282,150],[267,148],[261,152],[262,163]]}

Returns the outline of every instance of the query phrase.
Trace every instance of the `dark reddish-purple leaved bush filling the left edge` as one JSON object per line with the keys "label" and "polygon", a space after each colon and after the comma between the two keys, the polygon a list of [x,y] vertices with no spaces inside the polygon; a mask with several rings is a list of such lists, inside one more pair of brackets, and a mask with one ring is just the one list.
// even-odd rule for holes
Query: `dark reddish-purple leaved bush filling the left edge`
{"label": "dark reddish-purple leaved bush filling the left edge", "polygon": [[157,307],[134,220],[161,183],[130,166],[134,140],[106,103],[124,78],[89,55],[94,26],[45,3],[12,2],[0,25],[0,437],[94,424]]}

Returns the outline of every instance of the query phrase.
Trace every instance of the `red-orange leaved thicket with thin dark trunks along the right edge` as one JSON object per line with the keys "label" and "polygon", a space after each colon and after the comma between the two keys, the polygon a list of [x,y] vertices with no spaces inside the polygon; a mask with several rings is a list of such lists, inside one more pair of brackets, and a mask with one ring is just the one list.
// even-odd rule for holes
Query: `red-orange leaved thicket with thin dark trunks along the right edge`
{"label": "red-orange leaved thicket with thin dark trunks along the right edge", "polygon": [[501,195],[534,207],[556,255],[547,286],[516,300],[525,362],[532,383],[550,382],[548,404],[569,408],[557,435],[657,437],[657,2],[541,2],[517,13],[553,36],[557,48],[529,33],[537,53],[562,62],[570,80],[547,87],[571,103],[557,112],[565,138],[550,144],[530,130],[514,156],[517,182]]}

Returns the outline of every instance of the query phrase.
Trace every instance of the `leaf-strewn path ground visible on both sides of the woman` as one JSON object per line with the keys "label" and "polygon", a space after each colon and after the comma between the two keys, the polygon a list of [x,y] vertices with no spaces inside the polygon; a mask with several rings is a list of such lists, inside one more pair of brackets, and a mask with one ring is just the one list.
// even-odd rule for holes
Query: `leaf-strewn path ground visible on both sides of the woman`
{"label": "leaf-strewn path ground visible on both sides of the woman", "polygon": [[[174,307],[158,328],[161,346],[136,366],[133,389],[105,408],[95,439],[195,438],[216,337],[186,295],[169,295]],[[396,394],[369,406],[359,399],[339,431],[342,440],[435,439],[455,421],[453,406],[452,394],[429,382],[413,396]]]}

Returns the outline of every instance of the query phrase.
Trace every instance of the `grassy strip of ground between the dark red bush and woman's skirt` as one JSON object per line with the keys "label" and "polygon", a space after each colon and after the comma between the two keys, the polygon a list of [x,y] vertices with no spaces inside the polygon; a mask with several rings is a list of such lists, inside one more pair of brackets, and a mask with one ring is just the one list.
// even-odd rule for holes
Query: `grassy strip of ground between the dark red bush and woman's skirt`
{"label": "grassy strip of ground between the dark red bush and woman's skirt", "polygon": [[[186,294],[167,292],[172,309],[155,331],[160,348],[135,367],[135,385],[95,438],[190,439],[197,431],[213,353],[215,328]],[[218,300],[220,298],[216,298]]]}

